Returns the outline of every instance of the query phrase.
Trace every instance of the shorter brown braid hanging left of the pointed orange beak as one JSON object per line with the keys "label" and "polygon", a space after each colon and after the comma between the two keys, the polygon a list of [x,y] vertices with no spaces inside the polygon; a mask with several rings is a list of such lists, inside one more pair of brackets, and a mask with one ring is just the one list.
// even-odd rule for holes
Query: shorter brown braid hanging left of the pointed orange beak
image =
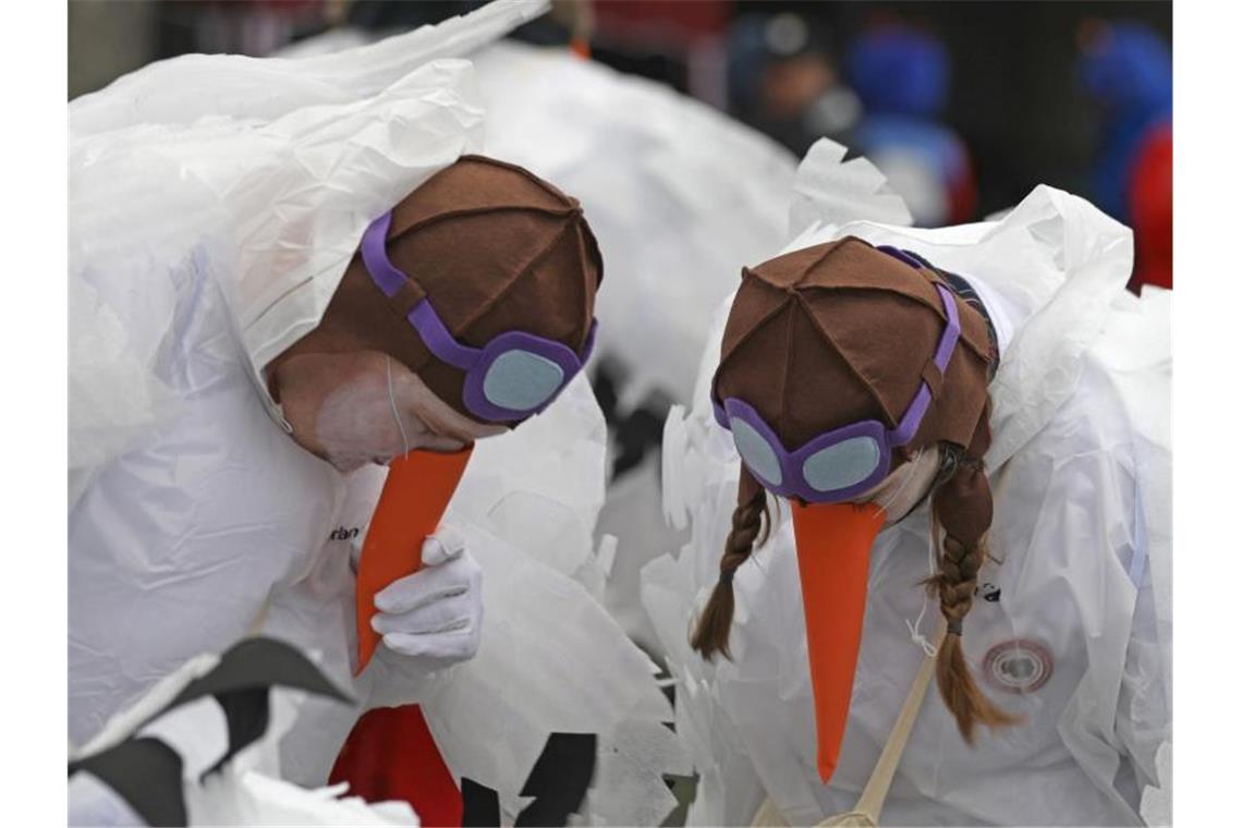
{"label": "shorter brown braid hanging left of the pointed orange beak", "polygon": [[756,546],[763,546],[771,530],[768,511],[768,492],[743,468],[738,485],[738,505],[733,510],[733,528],[724,541],[720,557],[720,577],[712,590],[712,597],[703,607],[691,647],[710,660],[717,653],[729,654],[729,628],[733,626],[733,574],[738,571]]}

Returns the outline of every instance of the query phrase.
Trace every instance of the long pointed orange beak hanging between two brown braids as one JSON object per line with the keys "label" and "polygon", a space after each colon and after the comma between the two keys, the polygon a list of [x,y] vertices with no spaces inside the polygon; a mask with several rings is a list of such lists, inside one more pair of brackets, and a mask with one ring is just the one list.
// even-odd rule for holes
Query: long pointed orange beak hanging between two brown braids
{"label": "long pointed orange beak hanging between two brown braids", "polygon": [[820,778],[837,770],[867,610],[871,546],[884,525],[874,504],[790,502],[806,612]]}

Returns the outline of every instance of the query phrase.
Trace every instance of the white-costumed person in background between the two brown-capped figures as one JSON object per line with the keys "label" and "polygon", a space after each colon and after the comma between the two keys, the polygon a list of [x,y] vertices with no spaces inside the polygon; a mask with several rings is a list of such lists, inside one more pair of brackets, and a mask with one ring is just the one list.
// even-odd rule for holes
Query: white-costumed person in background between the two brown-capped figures
{"label": "white-costumed person in background between the two brown-capped figures", "polygon": [[[564,7],[580,15],[589,6]],[[356,7],[358,17],[368,14],[391,22],[428,10]],[[281,55],[318,58],[384,31],[342,26]],[[737,262],[784,243],[797,158],[715,108],[589,60],[568,42],[505,38],[483,43],[469,60],[487,107],[484,151],[573,192],[607,262],[609,289],[596,313],[609,324],[589,366],[611,448],[596,524],[601,544],[616,539],[604,598],[630,637],[658,654],[638,572],[684,540],[661,518],[660,438],[669,405],[692,400],[713,322],[682,309],[717,307],[733,290]]]}

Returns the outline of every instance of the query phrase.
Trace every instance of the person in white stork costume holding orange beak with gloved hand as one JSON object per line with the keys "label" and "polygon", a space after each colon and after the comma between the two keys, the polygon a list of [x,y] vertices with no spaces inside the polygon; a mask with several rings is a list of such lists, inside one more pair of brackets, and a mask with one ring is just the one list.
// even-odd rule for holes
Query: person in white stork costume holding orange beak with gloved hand
{"label": "person in white stork costume holding orange beak with gloved hand", "polygon": [[356,787],[332,768],[359,715],[417,703],[497,821],[556,734],[592,735],[580,818],[672,807],[668,703],[599,602],[601,257],[575,200],[477,155],[453,60],[543,7],[186,56],[71,106],[76,760],[261,634],[349,700],[299,696],[271,776]]}

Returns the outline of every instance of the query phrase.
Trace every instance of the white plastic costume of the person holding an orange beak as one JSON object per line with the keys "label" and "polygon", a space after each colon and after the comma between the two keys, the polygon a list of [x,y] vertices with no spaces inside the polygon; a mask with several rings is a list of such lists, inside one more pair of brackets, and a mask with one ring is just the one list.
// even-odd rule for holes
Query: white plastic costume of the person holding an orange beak
{"label": "white plastic costume of the person holding an orange beak", "polygon": [[585,377],[479,443],[450,505],[484,572],[477,657],[424,675],[381,648],[356,682],[350,546],[385,472],[301,449],[261,379],[318,324],[368,222],[482,150],[469,63],[431,58],[544,5],[314,60],[188,56],[72,104],[75,742],[188,658],[262,632],[358,699],[299,706],[284,778],[322,785],[359,709],[417,700],[450,770],[510,816],[551,731],[600,735],[587,818],[672,808],[672,713],[597,602],[606,448]]}

